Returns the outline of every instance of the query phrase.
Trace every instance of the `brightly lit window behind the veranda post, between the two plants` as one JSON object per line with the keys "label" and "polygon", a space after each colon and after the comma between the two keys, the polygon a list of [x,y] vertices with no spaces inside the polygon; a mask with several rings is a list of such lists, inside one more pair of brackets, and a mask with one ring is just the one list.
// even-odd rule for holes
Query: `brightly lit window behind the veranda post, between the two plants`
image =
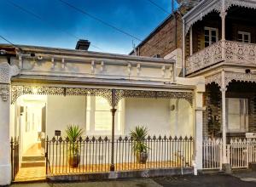
{"label": "brightly lit window behind the veranda post, between the two plants", "polygon": [[[108,135],[112,130],[111,107],[102,97],[86,97],[86,133],[91,135]],[[124,101],[120,100],[115,113],[115,134],[122,134],[124,119]]]}

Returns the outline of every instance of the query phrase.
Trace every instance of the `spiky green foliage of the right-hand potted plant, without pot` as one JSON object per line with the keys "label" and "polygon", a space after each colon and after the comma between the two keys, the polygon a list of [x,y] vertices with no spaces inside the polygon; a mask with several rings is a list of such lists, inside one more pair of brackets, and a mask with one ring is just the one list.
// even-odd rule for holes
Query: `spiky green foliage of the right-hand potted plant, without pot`
{"label": "spiky green foliage of the right-hand potted plant, without pot", "polygon": [[131,139],[134,143],[132,144],[132,149],[137,153],[147,152],[148,146],[145,142],[146,137],[148,136],[147,127],[135,127],[135,130],[132,130],[130,133]]}

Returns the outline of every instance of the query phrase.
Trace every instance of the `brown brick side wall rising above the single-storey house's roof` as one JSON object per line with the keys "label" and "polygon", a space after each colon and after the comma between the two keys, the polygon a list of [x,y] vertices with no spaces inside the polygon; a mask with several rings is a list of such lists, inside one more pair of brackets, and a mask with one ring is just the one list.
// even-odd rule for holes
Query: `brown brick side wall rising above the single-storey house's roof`
{"label": "brown brick side wall rising above the single-storey house's roof", "polygon": [[199,2],[200,0],[177,0],[177,3],[180,4],[178,11],[174,15],[170,15],[150,36],[137,46],[137,55],[153,57],[156,54],[160,54],[160,58],[164,58],[175,49],[182,48],[182,16]]}

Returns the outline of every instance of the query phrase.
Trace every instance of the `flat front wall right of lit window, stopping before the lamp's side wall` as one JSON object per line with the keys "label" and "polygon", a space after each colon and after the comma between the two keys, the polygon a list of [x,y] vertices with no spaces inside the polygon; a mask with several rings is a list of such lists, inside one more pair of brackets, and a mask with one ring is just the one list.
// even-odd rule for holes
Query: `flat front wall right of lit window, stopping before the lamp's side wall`
{"label": "flat front wall right of lit window, stopping before the lamp's side wall", "polygon": [[169,134],[169,99],[125,99],[125,134],[136,126],[148,127],[151,135]]}

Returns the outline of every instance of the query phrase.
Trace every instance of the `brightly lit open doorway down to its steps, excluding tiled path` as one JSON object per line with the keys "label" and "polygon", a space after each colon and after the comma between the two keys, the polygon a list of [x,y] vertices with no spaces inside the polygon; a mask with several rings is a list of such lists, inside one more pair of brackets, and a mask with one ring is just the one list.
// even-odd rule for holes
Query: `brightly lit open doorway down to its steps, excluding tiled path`
{"label": "brightly lit open doorway down to its steps, excluding tiled path", "polygon": [[21,167],[45,165],[46,99],[44,95],[23,95],[17,101]]}

